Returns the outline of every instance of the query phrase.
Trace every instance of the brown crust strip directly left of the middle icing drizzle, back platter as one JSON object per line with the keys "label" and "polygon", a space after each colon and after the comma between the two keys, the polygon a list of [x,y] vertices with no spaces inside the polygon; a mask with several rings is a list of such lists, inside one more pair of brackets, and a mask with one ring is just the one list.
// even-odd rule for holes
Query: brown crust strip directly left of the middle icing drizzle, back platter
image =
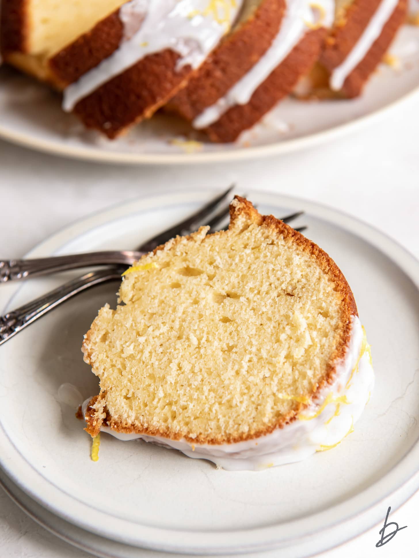
{"label": "brown crust strip directly left of the middle icing drizzle, back platter", "polygon": [[168,110],[191,121],[223,97],[268,50],[278,33],[284,9],[284,0],[263,0],[254,15],[227,35],[170,100]]}

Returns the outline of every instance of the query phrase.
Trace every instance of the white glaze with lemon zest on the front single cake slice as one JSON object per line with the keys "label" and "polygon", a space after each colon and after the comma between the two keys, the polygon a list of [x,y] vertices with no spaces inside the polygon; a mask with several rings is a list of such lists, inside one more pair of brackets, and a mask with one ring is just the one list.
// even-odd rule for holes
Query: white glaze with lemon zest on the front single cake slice
{"label": "white glaze with lemon zest on the front single cake slice", "polygon": [[[359,318],[353,316],[353,328],[346,357],[336,368],[333,384],[322,389],[315,403],[282,429],[254,440],[235,444],[191,444],[160,436],[122,434],[102,426],[101,431],[119,440],[141,439],[182,451],[188,457],[207,459],[227,470],[261,470],[294,463],[316,451],[334,448],[353,430],[374,387],[369,345]],[[88,402],[83,403],[83,413]]]}

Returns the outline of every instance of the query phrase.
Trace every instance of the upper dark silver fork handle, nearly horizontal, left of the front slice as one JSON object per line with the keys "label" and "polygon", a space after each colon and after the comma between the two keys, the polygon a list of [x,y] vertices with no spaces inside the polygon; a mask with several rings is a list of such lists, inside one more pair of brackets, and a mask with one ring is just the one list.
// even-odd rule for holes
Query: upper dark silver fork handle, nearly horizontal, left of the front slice
{"label": "upper dark silver fork handle, nearly horizontal, left of the front slice", "polygon": [[0,261],[0,283],[17,281],[79,267],[125,264],[130,266],[145,252],[132,250],[90,252],[37,259],[8,259]]}

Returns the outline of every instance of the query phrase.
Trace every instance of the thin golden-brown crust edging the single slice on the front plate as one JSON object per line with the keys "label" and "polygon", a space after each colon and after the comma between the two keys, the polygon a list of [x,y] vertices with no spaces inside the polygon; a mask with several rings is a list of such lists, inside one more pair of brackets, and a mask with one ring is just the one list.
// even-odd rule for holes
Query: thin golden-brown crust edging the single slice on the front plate
{"label": "thin golden-brown crust edging the single slice on the front plate", "polygon": [[[254,206],[244,198],[240,198],[240,196],[235,196],[235,199],[239,201],[239,204],[231,205],[230,206],[230,223],[234,223],[235,219],[240,218],[240,215],[244,214],[247,221],[252,223],[258,224],[259,226],[267,227],[271,229],[275,234],[280,235],[285,239],[291,240],[295,243],[299,248],[301,248],[307,254],[315,259],[318,266],[321,268],[323,272],[325,272],[328,277],[335,283],[335,289],[338,291],[342,296],[341,302],[341,319],[340,319],[340,329],[341,335],[339,343],[336,346],[334,353],[330,359],[330,362],[327,365],[325,374],[322,380],[316,385],[311,393],[311,401],[316,401],[316,395],[319,391],[325,387],[327,384],[331,384],[334,382],[336,376],[336,367],[342,359],[344,359],[347,349],[349,348],[350,339],[351,339],[351,329],[352,329],[352,316],[358,316],[358,310],[356,309],[356,304],[354,300],[354,295],[344,277],[340,269],[336,266],[336,263],[324,252],[321,248],[319,248],[315,243],[313,243],[308,238],[304,237],[301,233],[297,232],[296,230],[289,227],[287,224],[283,223],[279,219],[273,217],[273,215],[260,215],[258,211],[254,208]],[[224,234],[223,232],[214,233],[215,235]],[[178,237],[175,242],[179,242],[180,237]],[[203,240],[205,242],[205,238]],[[159,246],[155,249],[154,252],[163,249],[164,245]],[[83,352],[84,352],[84,359],[85,362],[89,363],[92,367],[94,367],[94,360],[92,359],[92,354],[89,351],[89,344],[91,340],[92,330],[94,328],[94,323],[92,325],[91,330],[85,335],[85,339],[83,341]],[[87,427],[85,430],[91,435],[96,436],[101,428],[102,423],[106,424],[107,426],[111,427],[111,429],[118,431],[118,432],[125,432],[127,434],[144,434],[147,436],[161,436],[167,437],[172,440],[180,439],[181,435],[175,434],[174,432],[162,432],[158,429],[149,429],[147,427],[137,427],[132,424],[128,424],[128,422],[122,422],[117,420],[109,415],[109,412],[106,409],[106,405],[104,402],[106,401],[106,393],[101,393],[91,399],[89,401],[89,405],[87,407],[87,411],[85,412],[85,420],[87,421]],[[92,405],[95,403],[103,402],[103,414],[105,417],[102,416],[101,412],[97,412],[92,408]],[[294,402],[292,410],[288,413],[287,416],[280,417],[276,422],[272,425],[265,427],[263,430],[258,430],[251,432],[251,434],[247,433],[244,435],[232,435],[232,436],[224,436],[222,439],[219,438],[211,438],[207,436],[197,436],[194,438],[189,438],[184,436],[184,439],[193,443],[193,444],[232,444],[235,442],[245,441],[255,439],[256,437],[260,437],[266,434],[269,434],[273,430],[277,428],[283,428],[285,425],[289,424],[296,420],[298,414],[306,408],[310,403],[301,403],[301,402]]]}

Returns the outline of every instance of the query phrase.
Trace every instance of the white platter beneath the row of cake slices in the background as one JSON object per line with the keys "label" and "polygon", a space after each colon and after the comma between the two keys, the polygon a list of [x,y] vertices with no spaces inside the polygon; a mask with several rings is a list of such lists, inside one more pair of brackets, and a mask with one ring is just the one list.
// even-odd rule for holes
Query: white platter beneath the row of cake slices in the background
{"label": "white platter beneath the row of cake slices in the background", "polygon": [[284,153],[331,140],[382,116],[419,88],[419,28],[404,26],[391,48],[399,66],[381,65],[358,99],[279,103],[236,143],[188,145],[184,122],[158,114],[117,141],[84,130],[46,86],[0,69],[0,137],[37,150],[118,163],[196,163]]}

